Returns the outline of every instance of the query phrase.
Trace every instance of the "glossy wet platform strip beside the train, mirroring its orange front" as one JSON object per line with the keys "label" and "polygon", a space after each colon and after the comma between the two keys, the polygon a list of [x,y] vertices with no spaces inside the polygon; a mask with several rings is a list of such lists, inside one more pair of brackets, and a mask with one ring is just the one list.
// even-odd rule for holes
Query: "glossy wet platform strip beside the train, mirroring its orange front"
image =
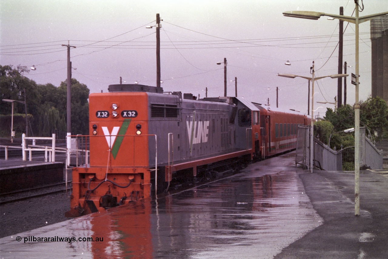
{"label": "glossy wet platform strip beside the train, mirroring its orange front", "polygon": [[303,170],[287,156],[265,163],[164,198],[19,234],[102,242],[23,243],[13,236],[0,239],[0,252],[30,258],[271,258],[322,222],[298,176]]}

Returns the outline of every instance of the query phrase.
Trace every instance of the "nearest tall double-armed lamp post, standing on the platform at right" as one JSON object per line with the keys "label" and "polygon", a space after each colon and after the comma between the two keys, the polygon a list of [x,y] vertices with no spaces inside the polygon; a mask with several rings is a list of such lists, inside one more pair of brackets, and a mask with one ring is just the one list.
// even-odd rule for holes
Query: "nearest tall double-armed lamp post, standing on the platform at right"
{"label": "nearest tall double-armed lamp post, standing on the platform at right", "polygon": [[355,205],[354,205],[354,215],[360,215],[360,104],[359,104],[359,24],[365,21],[369,21],[374,17],[383,16],[388,14],[388,12],[381,12],[378,14],[370,14],[366,16],[359,17],[359,0],[355,0],[355,17],[352,16],[343,16],[338,14],[326,14],[324,12],[310,12],[310,11],[287,11],[283,12],[284,16],[304,18],[304,19],[313,19],[317,20],[321,16],[329,16],[333,18],[340,19],[342,21],[347,21],[349,23],[355,24],[355,103],[354,103],[354,196],[355,196]]}

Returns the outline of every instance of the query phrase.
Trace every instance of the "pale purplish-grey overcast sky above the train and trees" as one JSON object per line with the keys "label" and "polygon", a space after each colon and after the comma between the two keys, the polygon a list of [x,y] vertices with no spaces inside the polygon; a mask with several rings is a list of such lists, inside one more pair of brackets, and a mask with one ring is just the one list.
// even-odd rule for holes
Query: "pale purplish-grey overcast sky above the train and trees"
{"label": "pale purplish-grey overcast sky above the train and trees", "polygon": [[[361,2],[361,0],[360,0]],[[360,16],[388,11],[386,0],[364,0]],[[308,81],[277,73],[316,76],[338,73],[338,19],[285,17],[284,11],[309,10],[352,16],[354,0],[1,0],[0,65],[23,65],[38,84],[59,86],[67,77],[67,48],[71,49],[72,77],[91,93],[107,92],[109,84],[156,86],[156,24],[159,13],[161,79],[164,91],[200,97],[223,96],[223,62],[227,58],[228,95],[307,114]],[[354,14],[353,14],[354,16]],[[344,28],[347,23],[344,23]],[[370,22],[360,24],[360,100],[371,94]],[[355,72],[355,27],[345,31],[343,61]],[[291,66],[284,65],[290,61]],[[337,79],[315,84],[314,101],[334,102]],[[347,102],[354,103],[348,77]],[[124,82],[123,82],[124,83]],[[269,89],[268,89],[269,88]],[[323,108],[318,108],[323,107]],[[316,112],[331,104],[314,103]],[[315,112],[315,113],[316,113]]]}

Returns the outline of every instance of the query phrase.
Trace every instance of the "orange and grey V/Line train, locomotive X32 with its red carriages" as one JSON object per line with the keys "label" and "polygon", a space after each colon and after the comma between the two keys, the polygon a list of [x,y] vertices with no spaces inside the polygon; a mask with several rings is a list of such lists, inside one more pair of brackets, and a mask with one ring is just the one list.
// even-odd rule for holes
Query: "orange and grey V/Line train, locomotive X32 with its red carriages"
{"label": "orange and grey V/Line train, locomotive X32 with its red carriages", "polygon": [[196,100],[162,87],[109,85],[89,96],[90,160],[74,167],[66,217],[76,217],[234,171],[296,148],[305,115],[239,97]]}

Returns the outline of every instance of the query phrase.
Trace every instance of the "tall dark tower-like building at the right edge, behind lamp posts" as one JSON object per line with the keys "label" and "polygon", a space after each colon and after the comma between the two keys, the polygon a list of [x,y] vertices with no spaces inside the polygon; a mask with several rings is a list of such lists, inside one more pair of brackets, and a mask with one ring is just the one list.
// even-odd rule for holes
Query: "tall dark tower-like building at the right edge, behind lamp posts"
{"label": "tall dark tower-like building at the right edge, behind lamp posts", "polygon": [[372,97],[388,103],[388,16],[371,20]]}

